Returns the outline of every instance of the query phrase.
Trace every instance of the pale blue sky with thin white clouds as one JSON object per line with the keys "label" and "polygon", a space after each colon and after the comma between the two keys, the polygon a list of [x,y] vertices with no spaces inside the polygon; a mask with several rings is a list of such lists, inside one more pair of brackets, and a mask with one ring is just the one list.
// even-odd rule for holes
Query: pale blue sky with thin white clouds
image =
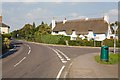
{"label": "pale blue sky with thin white clouds", "polygon": [[[44,21],[62,21],[82,18],[109,17],[110,22],[118,18],[118,2],[33,2],[33,0],[4,0],[0,10],[3,22],[10,26],[10,31],[22,28],[25,24],[35,22],[36,26]],[[34,0],[35,1],[35,0]],[[116,0],[117,1],[117,0]],[[0,3],[1,4],[1,3]]]}

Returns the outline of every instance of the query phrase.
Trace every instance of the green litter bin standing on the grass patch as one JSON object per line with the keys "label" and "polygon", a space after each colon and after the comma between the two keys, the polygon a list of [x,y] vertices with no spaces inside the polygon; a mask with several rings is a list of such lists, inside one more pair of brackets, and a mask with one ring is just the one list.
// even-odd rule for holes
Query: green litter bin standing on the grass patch
{"label": "green litter bin standing on the grass patch", "polygon": [[100,60],[106,61],[106,62],[109,61],[109,47],[108,46],[101,47]]}

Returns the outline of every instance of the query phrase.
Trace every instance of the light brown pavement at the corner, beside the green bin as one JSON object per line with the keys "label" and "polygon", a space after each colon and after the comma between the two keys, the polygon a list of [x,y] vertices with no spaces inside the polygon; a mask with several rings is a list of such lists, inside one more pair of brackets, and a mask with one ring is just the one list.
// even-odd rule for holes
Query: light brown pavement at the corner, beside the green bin
{"label": "light brown pavement at the corner, beside the green bin", "polygon": [[69,78],[118,78],[118,64],[99,64],[94,59],[98,54],[85,54],[75,58],[69,69]]}

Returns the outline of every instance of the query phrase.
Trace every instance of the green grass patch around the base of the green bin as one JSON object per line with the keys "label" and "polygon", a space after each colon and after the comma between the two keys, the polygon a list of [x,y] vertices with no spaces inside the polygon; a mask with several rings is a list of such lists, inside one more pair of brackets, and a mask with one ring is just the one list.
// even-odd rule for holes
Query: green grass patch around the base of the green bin
{"label": "green grass patch around the base of the green bin", "polygon": [[100,60],[100,56],[99,55],[96,55],[95,56],[95,61],[100,63],[100,64],[117,64],[120,62],[120,53],[116,53],[116,54],[113,54],[113,53],[110,53],[109,54],[109,61],[106,62],[106,61],[101,61]]}

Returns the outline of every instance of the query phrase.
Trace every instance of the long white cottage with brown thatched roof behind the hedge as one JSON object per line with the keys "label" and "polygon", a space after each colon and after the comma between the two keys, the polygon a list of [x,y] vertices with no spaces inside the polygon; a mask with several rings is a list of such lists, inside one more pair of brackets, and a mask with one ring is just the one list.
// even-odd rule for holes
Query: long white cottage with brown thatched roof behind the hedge
{"label": "long white cottage with brown thatched roof behind the hedge", "polygon": [[102,18],[85,18],[77,20],[52,20],[52,35],[70,36],[71,40],[77,37],[88,40],[102,41],[110,38],[111,28],[107,16]]}

